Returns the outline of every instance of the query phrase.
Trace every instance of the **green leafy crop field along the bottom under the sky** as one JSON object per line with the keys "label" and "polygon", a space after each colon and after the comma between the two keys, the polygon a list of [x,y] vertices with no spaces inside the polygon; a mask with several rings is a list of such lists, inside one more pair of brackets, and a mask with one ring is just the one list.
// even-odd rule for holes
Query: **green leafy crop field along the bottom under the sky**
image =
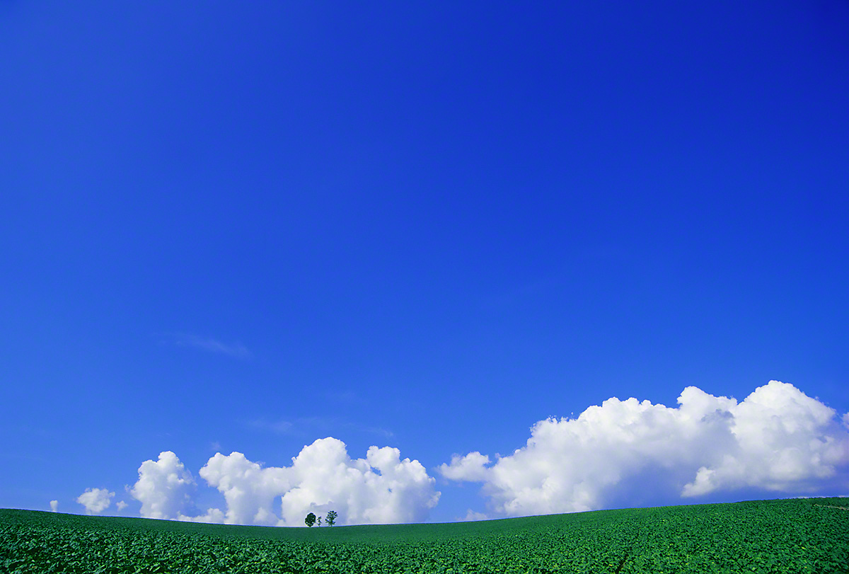
{"label": "green leafy crop field along the bottom under the sky", "polygon": [[849,572],[849,498],[399,526],[0,509],[3,572]]}

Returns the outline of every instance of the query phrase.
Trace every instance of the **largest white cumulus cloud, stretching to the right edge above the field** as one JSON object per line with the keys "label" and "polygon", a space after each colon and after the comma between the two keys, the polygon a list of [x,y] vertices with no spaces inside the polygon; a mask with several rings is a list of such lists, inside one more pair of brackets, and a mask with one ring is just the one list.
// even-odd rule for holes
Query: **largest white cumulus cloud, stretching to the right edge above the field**
{"label": "largest white cumulus cloud, stretching to the right edge above the field", "polygon": [[[577,419],[546,419],[526,446],[491,463],[455,455],[442,476],[483,483],[494,515],[572,512],[756,488],[849,488],[849,433],[835,410],[770,381],[743,402],[689,386],[678,408],[610,398]],[[652,501],[652,502],[656,502]]]}

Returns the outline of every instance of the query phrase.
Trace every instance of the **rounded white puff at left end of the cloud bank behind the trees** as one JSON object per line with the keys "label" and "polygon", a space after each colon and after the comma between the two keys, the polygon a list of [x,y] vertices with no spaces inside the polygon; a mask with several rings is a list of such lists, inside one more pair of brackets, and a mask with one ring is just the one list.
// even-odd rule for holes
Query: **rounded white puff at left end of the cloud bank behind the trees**
{"label": "rounded white puff at left end of the cloud bank behind the trees", "polygon": [[130,494],[142,503],[146,518],[174,518],[190,502],[196,484],[177,455],[160,453],[159,459],[145,460],[138,467],[138,481]]}

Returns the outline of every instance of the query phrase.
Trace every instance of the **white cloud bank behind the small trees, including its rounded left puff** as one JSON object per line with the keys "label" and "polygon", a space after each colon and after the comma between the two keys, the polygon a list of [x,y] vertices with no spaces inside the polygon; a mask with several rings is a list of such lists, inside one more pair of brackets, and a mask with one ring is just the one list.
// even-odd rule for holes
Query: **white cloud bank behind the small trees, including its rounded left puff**
{"label": "white cloud bank behind the small trees, including its rounded left puff", "polygon": [[263,468],[243,453],[216,453],[200,476],[224,495],[226,509],[186,515],[194,477],[170,451],[138,470],[132,496],[141,515],[183,521],[267,526],[304,526],[308,512],[339,513],[339,524],[425,521],[439,492],[418,460],[401,459],[392,447],[369,447],[365,459],[351,459],[333,437],[303,447],[290,466]]}

